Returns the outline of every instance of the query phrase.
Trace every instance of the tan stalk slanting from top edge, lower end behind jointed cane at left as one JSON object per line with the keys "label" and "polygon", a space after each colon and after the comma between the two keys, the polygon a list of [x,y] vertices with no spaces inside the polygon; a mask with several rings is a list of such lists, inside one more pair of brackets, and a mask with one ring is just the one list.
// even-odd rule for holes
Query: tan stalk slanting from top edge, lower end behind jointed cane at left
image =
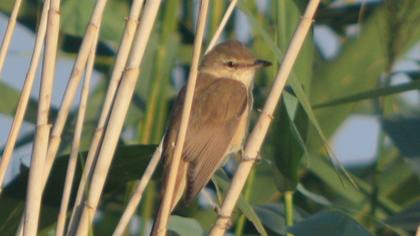
{"label": "tan stalk slanting from top edge, lower end behind jointed cane at left", "polygon": [[83,38],[82,45],[80,46],[79,53],[73,66],[67,88],[58,111],[57,120],[51,132],[51,140],[48,145],[48,153],[44,166],[43,185],[39,191],[43,191],[47,183],[52,165],[57,155],[58,148],[61,143],[61,134],[63,133],[64,125],[66,123],[68,114],[77,93],[80,80],[82,79],[83,70],[92,47],[96,47],[98,42],[97,34],[102,21],[107,0],[98,0],[93,11],[90,23],[86,29],[85,37]]}

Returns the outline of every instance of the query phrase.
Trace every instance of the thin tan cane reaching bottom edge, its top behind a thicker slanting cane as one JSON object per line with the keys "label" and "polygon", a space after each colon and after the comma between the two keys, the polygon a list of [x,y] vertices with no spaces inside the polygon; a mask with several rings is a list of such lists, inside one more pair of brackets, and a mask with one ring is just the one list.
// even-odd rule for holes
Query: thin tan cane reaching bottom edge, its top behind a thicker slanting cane
{"label": "thin tan cane reaching bottom edge, its top behind a thicker slanting cane", "polygon": [[[96,33],[98,37],[99,32]],[[76,128],[74,131],[73,144],[71,148],[69,162],[67,164],[67,174],[64,183],[63,197],[61,198],[60,212],[58,213],[56,236],[64,235],[66,225],[66,215],[70,200],[71,189],[73,186],[74,174],[76,171],[77,158],[79,155],[80,138],[82,136],[83,122],[85,119],[86,104],[89,97],[90,79],[92,77],[93,66],[95,64],[96,45],[90,49],[87,62],[85,81],[83,82],[82,96],[80,98],[79,113],[77,114]]]}

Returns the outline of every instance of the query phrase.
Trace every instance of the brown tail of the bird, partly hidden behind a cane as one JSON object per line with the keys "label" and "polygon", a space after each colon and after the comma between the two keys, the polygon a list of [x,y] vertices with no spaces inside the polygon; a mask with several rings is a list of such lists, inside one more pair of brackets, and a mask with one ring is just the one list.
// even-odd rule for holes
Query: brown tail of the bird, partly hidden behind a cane
{"label": "brown tail of the bird, partly hidden behind a cane", "polygon": [[[176,205],[178,204],[179,200],[181,199],[186,184],[187,184],[187,168],[188,167],[188,163],[184,162],[181,160],[181,163],[179,164],[179,168],[178,168],[178,175],[177,175],[177,179],[175,181],[175,188],[174,188],[174,194],[172,195],[172,203],[171,203],[171,210],[169,212],[169,214],[175,209]],[[168,171],[169,172],[169,171]],[[161,222],[160,222],[160,218],[162,217],[162,203],[163,203],[163,196],[165,194],[165,189],[168,183],[168,174],[169,173],[165,173],[165,177],[164,177],[164,184],[162,186],[162,191],[161,191],[161,200],[159,203],[159,209],[157,211],[156,217],[155,217],[155,221],[153,222],[153,226],[152,226],[152,231],[150,232],[150,236],[156,236],[156,235],[162,235],[159,232],[159,230],[164,230],[166,231],[166,228],[162,229],[161,228]],[[164,234],[166,235],[166,234]]]}

